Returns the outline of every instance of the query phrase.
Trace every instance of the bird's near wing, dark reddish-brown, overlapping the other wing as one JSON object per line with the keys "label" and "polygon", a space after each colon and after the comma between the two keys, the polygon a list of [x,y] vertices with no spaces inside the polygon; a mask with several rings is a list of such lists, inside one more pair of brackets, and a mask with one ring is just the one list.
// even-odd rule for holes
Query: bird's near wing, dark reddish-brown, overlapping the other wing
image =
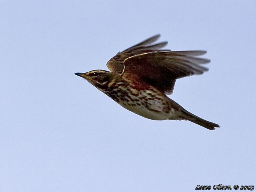
{"label": "bird's near wing, dark reddish-brown, overlapping the other wing", "polygon": [[124,60],[123,77],[130,74],[151,84],[165,94],[172,94],[176,79],[194,74],[203,74],[208,68],[202,66],[210,62],[198,58],[204,50],[154,51],[130,56]]}

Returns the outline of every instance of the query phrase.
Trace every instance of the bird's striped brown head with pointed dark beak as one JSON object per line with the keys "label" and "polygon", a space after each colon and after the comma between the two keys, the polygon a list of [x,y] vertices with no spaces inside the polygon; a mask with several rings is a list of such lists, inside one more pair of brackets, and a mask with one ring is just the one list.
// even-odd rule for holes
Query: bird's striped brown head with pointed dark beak
{"label": "bird's striped brown head with pointed dark beak", "polygon": [[75,73],[75,75],[86,79],[96,88],[103,89],[112,80],[112,72],[105,70],[92,70],[86,73]]}

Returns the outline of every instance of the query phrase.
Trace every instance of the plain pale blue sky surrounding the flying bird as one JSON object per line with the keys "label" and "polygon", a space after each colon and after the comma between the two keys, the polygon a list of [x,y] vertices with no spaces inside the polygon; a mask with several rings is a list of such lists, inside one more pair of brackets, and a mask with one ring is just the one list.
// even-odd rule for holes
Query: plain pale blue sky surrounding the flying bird
{"label": "plain pale blue sky surrounding the flying bird", "polygon": [[[255,1],[0,7],[1,192],[256,186]],[[208,51],[210,70],[177,80],[169,97],[220,128],[143,118],[74,75],[108,70],[117,52],[158,33],[168,49]]]}

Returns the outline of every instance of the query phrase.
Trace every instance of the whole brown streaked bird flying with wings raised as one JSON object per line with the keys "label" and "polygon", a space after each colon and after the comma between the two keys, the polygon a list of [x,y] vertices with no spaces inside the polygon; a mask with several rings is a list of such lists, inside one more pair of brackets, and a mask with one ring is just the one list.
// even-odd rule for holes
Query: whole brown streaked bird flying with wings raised
{"label": "whole brown streaked bird flying with wings raised", "polygon": [[171,51],[162,49],[167,41],[155,43],[152,36],[107,62],[106,70],[92,70],[75,75],[86,79],[122,107],[151,120],[188,120],[208,130],[220,127],[204,120],[170,99],[177,79],[208,70],[200,58],[205,50]]}

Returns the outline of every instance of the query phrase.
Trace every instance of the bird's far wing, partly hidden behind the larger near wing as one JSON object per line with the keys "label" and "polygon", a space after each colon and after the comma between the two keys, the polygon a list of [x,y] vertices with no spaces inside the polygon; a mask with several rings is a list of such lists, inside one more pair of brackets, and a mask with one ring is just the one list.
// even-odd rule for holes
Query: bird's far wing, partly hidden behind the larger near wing
{"label": "bird's far wing, partly hidden behind the larger near wing", "polygon": [[124,60],[126,58],[134,55],[142,54],[142,53],[158,51],[160,50],[160,48],[166,46],[168,42],[160,42],[157,44],[152,44],[159,37],[160,37],[160,34],[152,36],[122,52],[118,52],[118,54],[116,54],[107,62],[107,67],[109,68],[110,71],[114,73],[122,73],[124,69]]}

